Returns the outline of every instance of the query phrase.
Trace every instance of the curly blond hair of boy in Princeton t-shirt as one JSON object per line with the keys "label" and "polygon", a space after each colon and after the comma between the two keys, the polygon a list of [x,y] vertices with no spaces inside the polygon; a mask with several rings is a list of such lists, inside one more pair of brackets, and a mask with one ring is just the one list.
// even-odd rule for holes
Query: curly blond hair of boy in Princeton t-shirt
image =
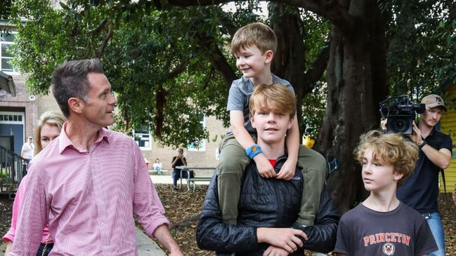
{"label": "curly blond hair of boy in Princeton t-shirt", "polygon": [[371,130],[360,136],[360,142],[353,151],[355,159],[361,164],[367,149],[372,150],[373,159],[391,163],[394,172],[403,174],[403,177],[398,180],[398,187],[415,169],[418,159],[418,146],[403,135]]}

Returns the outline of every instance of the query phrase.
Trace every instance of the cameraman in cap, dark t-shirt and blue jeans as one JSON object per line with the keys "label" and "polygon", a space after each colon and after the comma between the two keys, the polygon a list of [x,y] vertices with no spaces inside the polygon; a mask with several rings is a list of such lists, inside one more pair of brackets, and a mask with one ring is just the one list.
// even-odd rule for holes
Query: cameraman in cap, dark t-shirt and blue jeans
{"label": "cameraman in cap, dark t-shirt and blue jeans", "polygon": [[[450,166],[452,140],[450,135],[435,128],[443,111],[446,112],[442,97],[427,95],[422,99],[422,104],[426,105],[426,110],[418,126],[413,123],[413,133],[408,135],[420,149],[417,165],[412,175],[398,188],[397,196],[400,201],[421,213],[431,227],[438,251],[429,256],[445,256],[445,234],[437,203],[438,174],[441,169]],[[386,129],[386,121],[382,121],[382,128]]]}

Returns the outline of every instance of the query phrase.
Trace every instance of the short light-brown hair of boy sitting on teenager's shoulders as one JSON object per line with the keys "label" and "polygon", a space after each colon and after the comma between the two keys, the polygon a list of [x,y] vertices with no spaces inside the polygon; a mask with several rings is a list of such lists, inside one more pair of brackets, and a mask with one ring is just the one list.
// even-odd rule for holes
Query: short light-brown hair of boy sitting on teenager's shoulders
{"label": "short light-brown hair of boy sitting on teenager's shoulders", "polygon": [[275,53],[277,50],[277,36],[271,27],[261,22],[251,23],[237,30],[231,41],[231,50],[238,53],[240,50],[256,46],[262,54],[267,50]]}

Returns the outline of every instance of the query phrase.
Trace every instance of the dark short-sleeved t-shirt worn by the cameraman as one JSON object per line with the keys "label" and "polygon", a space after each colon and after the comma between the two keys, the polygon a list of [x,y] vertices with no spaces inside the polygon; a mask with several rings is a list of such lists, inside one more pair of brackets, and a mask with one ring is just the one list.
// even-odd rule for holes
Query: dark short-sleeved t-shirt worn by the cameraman
{"label": "dark short-sleeved t-shirt worn by the cameraman", "polygon": [[[435,128],[426,137],[426,143],[437,150],[448,149],[450,152],[452,151],[451,137]],[[399,200],[419,213],[436,213],[438,211],[438,175],[440,170],[427,158],[423,151],[419,151],[415,170],[398,188]]]}

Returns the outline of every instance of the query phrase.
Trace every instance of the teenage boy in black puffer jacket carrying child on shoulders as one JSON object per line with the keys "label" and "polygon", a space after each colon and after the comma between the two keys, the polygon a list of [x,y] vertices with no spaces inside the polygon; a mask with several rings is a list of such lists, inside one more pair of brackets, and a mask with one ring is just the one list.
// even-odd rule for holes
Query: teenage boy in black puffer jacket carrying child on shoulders
{"label": "teenage boy in black puffer jacket carrying child on shoulders", "polygon": [[[280,83],[256,86],[250,97],[250,121],[258,131],[258,144],[277,172],[287,161],[285,134],[296,115],[294,101],[294,94]],[[249,163],[242,177],[237,224],[226,224],[221,219],[218,176],[214,175],[197,225],[198,247],[218,251],[216,255],[234,252],[239,256],[302,256],[305,249],[332,251],[339,213],[325,185],[315,191],[320,194],[315,225],[304,227],[295,222],[306,187],[300,169],[294,167],[292,180],[264,179],[255,162]]]}

